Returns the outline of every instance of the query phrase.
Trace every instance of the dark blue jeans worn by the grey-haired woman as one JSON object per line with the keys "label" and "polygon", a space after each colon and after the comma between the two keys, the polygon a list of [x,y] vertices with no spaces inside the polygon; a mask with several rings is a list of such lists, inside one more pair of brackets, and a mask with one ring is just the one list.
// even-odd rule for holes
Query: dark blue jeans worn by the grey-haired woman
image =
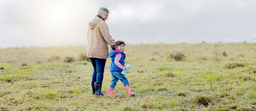
{"label": "dark blue jeans worn by the grey-haired woman", "polygon": [[90,58],[91,64],[93,66],[92,73],[92,82],[102,82],[104,75],[104,68],[107,59],[99,59],[99,58]]}

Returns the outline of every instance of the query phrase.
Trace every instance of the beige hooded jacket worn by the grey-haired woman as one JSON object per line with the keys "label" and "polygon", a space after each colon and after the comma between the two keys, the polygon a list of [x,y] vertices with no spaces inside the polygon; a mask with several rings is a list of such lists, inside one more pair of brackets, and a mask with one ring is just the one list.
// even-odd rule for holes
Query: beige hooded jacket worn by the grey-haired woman
{"label": "beige hooded jacket worn by the grey-haired woman", "polygon": [[109,27],[99,17],[95,17],[90,23],[87,32],[87,56],[88,58],[107,59],[109,47],[115,44],[115,40],[109,34]]}

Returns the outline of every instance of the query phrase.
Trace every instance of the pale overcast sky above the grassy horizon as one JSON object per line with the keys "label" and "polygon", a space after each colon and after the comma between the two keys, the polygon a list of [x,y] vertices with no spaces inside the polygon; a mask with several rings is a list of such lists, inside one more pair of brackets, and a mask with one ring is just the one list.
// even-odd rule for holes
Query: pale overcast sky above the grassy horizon
{"label": "pale overcast sky above the grassy horizon", "polygon": [[256,39],[256,0],[0,0],[0,48],[86,45],[100,7],[127,44]]}

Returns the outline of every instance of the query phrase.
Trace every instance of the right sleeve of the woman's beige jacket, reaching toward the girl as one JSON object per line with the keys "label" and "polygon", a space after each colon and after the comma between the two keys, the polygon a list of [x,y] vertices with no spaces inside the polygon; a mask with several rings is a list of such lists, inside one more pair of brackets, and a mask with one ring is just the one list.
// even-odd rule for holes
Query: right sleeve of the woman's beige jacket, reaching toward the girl
{"label": "right sleeve of the woman's beige jacket, reaching toward the girl", "polygon": [[114,45],[115,44],[115,40],[111,37],[110,33],[109,33],[109,27],[108,25],[106,24],[105,21],[101,20],[99,22],[100,24],[100,27],[99,27],[99,30],[102,34],[102,37],[105,39],[105,41],[110,45]]}

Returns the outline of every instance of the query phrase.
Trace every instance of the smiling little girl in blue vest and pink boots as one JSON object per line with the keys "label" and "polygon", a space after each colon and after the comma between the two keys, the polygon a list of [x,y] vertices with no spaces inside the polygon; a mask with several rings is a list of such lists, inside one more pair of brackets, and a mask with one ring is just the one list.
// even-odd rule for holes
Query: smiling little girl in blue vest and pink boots
{"label": "smiling little girl in blue vest and pink boots", "polygon": [[109,86],[108,93],[111,96],[113,96],[113,90],[118,80],[122,81],[123,86],[127,90],[128,94],[130,94],[131,96],[135,96],[135,94],[132,93],[130,90],[128,79],[125,77],[125,75],[121,74],[122,70],[127,70],[126,67],[124,67],[124,61],[126,57],[123,53],[124,46],[125,43],[123,41],[116,41],[115,45],[111,47],[112,49],[109,53],[112,62],[110,64],[111,85]]}

